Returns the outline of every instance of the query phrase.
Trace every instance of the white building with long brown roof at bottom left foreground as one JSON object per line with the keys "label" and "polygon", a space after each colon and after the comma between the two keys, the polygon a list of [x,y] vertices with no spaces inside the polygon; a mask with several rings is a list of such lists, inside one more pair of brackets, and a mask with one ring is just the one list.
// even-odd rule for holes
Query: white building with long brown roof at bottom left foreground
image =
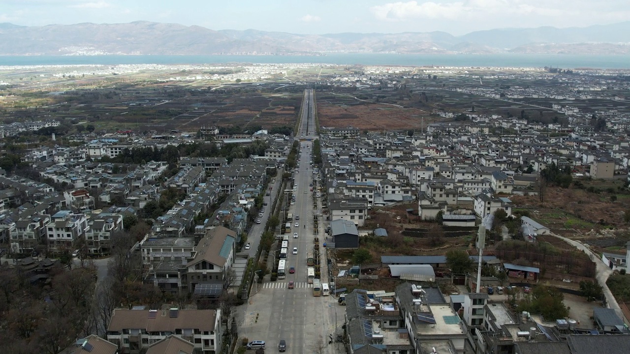
{"label": "white building with long brown roof at bottom left foreground", "polygon": [[[123,353],[140,353],[169,336],[193,343],[195,353],[221,350],[221,310],[115,309],[107,326],[107,340]],[[178,353],[179,354],[179,353]]]}

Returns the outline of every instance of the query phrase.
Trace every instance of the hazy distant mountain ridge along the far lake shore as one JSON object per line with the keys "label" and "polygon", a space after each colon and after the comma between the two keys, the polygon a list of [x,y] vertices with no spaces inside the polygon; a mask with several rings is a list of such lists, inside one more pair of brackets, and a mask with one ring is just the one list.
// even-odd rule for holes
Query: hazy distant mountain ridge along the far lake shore
{"label": "hazy distant mountain ridge along the far lake shore", "polygon": [[299,35],[258,30],[132,23],[19,26],[0,23],[0,55],[630,54],[630,21],[572,28],[503,28]]}

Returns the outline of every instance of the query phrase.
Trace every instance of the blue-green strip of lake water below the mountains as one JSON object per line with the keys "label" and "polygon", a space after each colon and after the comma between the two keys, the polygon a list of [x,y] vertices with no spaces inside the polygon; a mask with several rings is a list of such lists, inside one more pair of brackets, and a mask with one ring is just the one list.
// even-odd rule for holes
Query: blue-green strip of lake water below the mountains
{"label": "blue-green strip of lake water below the mountains", "polygon": [[630,55],[571,54],[328,54],[306,55],[84,55],[0,56],[0,66],[80,64],[364,64],[382,66],[545,67],[630,69]]}

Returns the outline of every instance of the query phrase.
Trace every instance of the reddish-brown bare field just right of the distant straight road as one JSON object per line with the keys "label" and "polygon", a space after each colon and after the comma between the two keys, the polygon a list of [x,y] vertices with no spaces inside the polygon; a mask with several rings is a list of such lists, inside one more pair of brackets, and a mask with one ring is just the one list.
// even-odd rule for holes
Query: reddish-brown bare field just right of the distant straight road
{"label": "reddish-brown bare field just right of the distant straight road", "polygon": [[428,124],[443,118],[428,117],[427,113],[416,108],[399,108],[378,103],[360,105],[334,105],[318,101],[318,119],[321,127],[355,127],[360,130],[420,130]]}

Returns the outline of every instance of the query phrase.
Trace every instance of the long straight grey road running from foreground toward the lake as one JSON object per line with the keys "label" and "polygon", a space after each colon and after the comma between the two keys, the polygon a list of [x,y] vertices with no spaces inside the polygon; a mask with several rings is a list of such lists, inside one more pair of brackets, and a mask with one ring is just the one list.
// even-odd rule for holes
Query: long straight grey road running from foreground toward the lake
{"label": "long straight grey road running from foreground toward the lake", "polygon": [[[314,123],[314,96],[312,90],[306,90],[302,102],[302,117],[296,138],[312,139],[316,137]],[[280,340],[287,341],[289,353],[336,353],[335,343],[329,344],[329,334],[335,328],[336,299],[332,296],[314,297],[312,284],[307,283],[307,252],[312,251],[314,237],[321,235],[314,229],[314,215],[319,211],[313,207],[314,192],[312,180],[312,142],[302,141],[299,146],[299,162],[294,172],[294,188],[286,193],[294,193],[295,204],[290,205],[291,220],[289,233],[289,253],[287,254],[287,275],[285,279],[270,282],[265,277],[263,284],[255,284],[248,304],[242,313],[241,336],[249,341],[264,340],[266,349],[277,350]],[[285,191],[282,191],[285,192]],[[298,220],[297,217],[299,217]],[[282,221],[282,220],[281,220]],[[297,224],[297,226],[296,226]],[[323,226],[319,227],[319,232]],[[293,234],[297,232],[298,237]],[[297,248],[297,254],[293,249]],[[277,254],[276,254],[277,255]],[[319,257],[322,263],[322,283],[326,278],[325,256]],[[293,266],[295,273],[289,273]],[[289,282],[295,287],[288,288]],[[338,312],[338,319],[343,322],[343,312]],[[341,349],[343,349],[341,347]]]}

